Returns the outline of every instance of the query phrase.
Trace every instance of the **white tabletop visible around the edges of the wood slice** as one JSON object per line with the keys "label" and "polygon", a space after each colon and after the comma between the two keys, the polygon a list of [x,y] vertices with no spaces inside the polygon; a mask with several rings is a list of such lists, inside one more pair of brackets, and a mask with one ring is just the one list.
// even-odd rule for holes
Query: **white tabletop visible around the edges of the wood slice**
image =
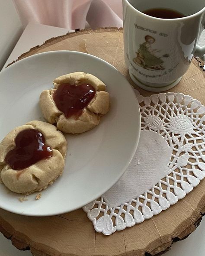
{"label": "white tabletop visible around the edges of the wood slice", "polygon": [[[47,39],[64,35],[67,32],[67,29],[29,23],[3,68],[32,47],[41,45]],[[204,35],[205,33],[203,38],[205,38]],[[202,40],[200,45],[203,45]],[[12,246],[11,241],[0,233],[0,256],[32,256],[32,254],[30,251],[17,250]],[[185,240],[174,243],[172,249],[165,253],[164,256],[205,256],[205,217],[195,232]]]}

